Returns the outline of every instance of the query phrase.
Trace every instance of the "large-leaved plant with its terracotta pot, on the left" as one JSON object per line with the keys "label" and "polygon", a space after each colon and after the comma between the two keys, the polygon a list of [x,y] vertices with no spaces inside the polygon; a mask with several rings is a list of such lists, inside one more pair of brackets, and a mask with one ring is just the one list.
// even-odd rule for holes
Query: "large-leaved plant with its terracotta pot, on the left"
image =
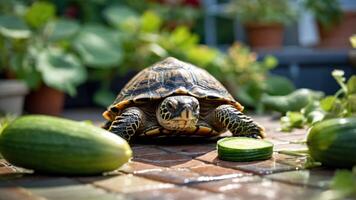
{"label": "large-leaved plant with its terracotta pot, on the left", "polygon": [[74,21],[55,19],[55,7],[35,2],[20,13],[0,16],[0,59],[7,77],[23,80],[31,89],[26,109],[59,115],[64,93],[74,95],[86,80],[86,69],[68,51],[79,30]]}

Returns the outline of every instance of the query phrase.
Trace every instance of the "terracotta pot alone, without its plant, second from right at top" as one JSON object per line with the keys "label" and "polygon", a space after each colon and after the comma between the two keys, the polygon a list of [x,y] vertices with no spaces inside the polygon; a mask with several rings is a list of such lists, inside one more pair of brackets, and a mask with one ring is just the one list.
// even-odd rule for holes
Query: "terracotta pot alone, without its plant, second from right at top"
{"label": "terracotta pot alone, without its plant, second from right at top", "polygon": [[247,40],[252,48],[281,48],[283,45],[283,25],[247,24]]}

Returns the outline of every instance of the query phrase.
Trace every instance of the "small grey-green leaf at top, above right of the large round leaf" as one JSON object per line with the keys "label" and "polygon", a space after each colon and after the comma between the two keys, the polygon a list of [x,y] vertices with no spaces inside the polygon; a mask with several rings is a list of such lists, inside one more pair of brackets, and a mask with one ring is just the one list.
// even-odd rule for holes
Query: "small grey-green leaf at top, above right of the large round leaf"
{"label": "small grey-green leaf at top, above right of the large round leaf", "polygon": [[[130,29],[135,24],[135,27],[137,27],[139,19],[138,14],[126,6],[108,7],[104,10],[104,17],[109,24],[122,30]],[[135,29],[135,27],[131,28]]]}

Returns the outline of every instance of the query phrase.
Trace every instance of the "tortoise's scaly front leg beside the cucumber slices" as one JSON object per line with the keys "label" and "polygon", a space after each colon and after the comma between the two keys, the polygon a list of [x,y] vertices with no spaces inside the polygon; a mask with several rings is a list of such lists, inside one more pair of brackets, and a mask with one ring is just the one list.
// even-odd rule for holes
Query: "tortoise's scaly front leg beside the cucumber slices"
{"label": "tortoise's scaly front leg beside the cucumber slices", "polygon": [[215,109],[215,120],[227,128],[234,136],[264,138],[264,128],[231,105],[221,105]]}

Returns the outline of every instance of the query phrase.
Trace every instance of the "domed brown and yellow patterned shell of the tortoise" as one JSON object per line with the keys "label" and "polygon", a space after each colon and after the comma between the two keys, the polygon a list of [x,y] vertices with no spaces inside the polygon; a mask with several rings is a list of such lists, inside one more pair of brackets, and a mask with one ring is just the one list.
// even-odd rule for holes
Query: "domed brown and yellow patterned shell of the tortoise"
{"label": "domed brown and yellow patterned shell of the tortoise", "polygon": [[207,71],[169,57],[132,78],[103,116],[112,121],[117,113],[131,105],[172,95],[191,95],[197,99],[221,101],[243,110],[243,106]]}

